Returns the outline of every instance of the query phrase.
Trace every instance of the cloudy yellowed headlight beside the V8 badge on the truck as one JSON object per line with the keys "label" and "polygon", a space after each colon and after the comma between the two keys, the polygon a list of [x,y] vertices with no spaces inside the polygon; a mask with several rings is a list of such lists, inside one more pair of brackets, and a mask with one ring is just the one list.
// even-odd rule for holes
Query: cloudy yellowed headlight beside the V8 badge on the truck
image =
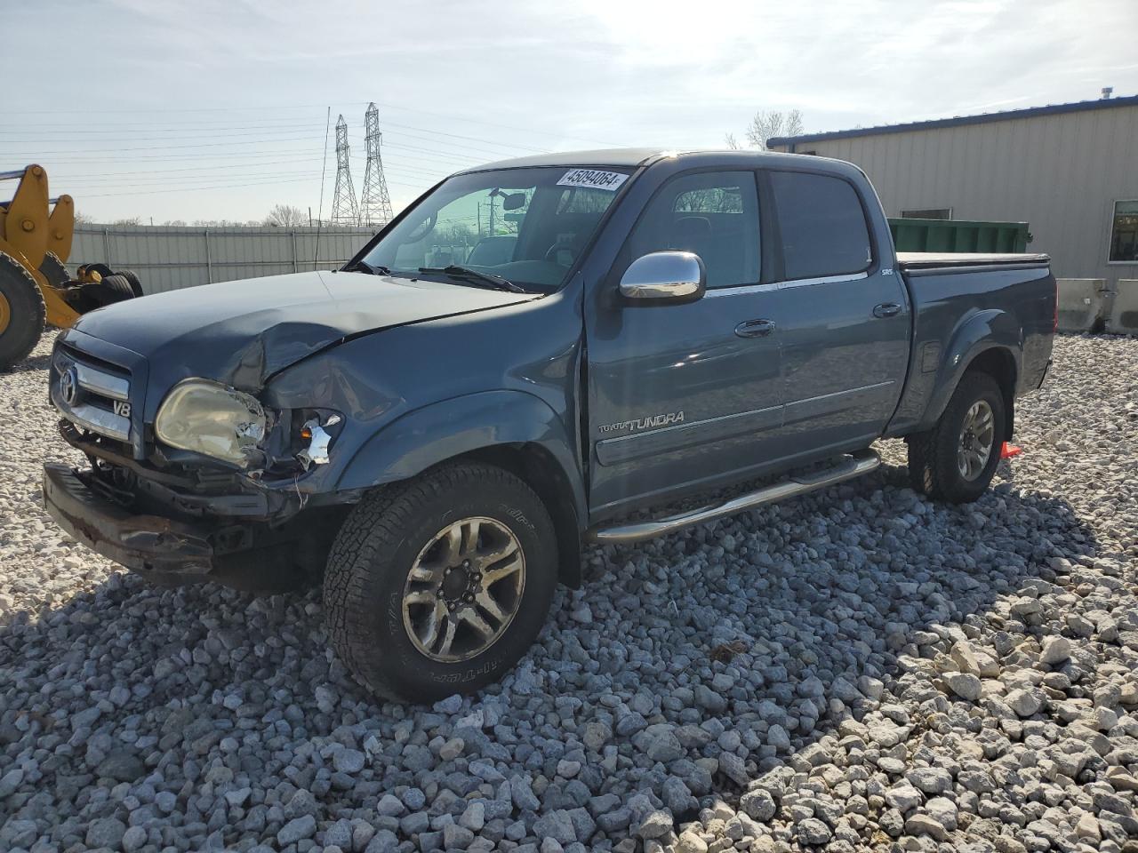
{"label": "cloudy yellowed headlight beside the V8 badge on the truck", "polygon": [[171,447],[244,467],[265,437],[266,422],[256,397],[208,380],[187,379],[166,395],[154,431]]}

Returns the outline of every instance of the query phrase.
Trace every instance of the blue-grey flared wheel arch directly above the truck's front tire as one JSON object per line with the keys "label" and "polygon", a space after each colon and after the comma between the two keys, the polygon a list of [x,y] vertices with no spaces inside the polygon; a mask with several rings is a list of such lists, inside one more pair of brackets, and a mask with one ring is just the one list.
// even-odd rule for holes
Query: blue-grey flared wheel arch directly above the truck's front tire
{"label": "blue-grey flared wheel arch directly above the truck's front tire", "polygon": [[402,415],[360,447],[336,488],[365,489],[406,480],[465,453],[522,444],[549,453],[572,489],[578,517],[587,517],[572,439],[553,408],[525,391],[479,391]]}

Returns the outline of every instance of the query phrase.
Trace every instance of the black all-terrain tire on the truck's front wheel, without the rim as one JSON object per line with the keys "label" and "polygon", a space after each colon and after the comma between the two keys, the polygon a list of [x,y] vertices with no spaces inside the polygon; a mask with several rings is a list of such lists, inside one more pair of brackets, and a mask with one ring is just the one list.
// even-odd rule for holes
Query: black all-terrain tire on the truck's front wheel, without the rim
{"label": "black all-terrain tire on the truck's front wheel, without the rim", "polygon": [[[492,645],[467,660],[432,660],[404,627],[405,583],[432,539],[470,517],[490,519],[517,538],[523,587]],[[556,580],[553,522],[533,489],[490,465],[444,465],[374,491],[352,511],[328,557],[325,620],[336,653],[360,684],[387,698],[434,702],[508,672],[545,623]]]}

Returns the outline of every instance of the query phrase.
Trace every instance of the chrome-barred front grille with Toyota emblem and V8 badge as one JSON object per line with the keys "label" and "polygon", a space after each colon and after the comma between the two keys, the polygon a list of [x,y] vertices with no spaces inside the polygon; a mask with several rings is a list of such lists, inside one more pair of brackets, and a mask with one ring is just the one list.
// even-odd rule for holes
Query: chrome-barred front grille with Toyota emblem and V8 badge
{"label": "chrome-barred front grille with Toyota emblem and V8 badge", "polygon": [[131,379],[125,368],[59,347],[52,359],[51,403],[84,430],[131,442]]}

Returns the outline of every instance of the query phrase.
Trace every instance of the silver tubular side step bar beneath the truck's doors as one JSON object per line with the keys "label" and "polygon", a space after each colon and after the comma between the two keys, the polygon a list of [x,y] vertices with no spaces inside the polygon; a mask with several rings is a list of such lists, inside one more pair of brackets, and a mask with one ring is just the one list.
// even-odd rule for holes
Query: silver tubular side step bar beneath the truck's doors
{"label": "silver tubular side step bar beneath the truck's doors", "polygon": [[657,536],[670,533],[681,528],[692,524],[702,524],[707,521],[715,521],[727,515],[735,515],[744,510],[753,510],[762,504],[773,504],[776,500],[805,495],[808,491],[824,489],[827,486],[852,480],[855,477],[867,474],[881,465],[881,456],[874,450],[863,450],[855,455],[847,455],[840,462],[830,467],[811,471],[806,474],[791,477],[789,480],[766,486],[757,491],[726,500],[721,504],[709,504],[699,510],[669,515],[663,519],[652,521],[637,521],[628,524],[618,524],[608,528],[594,528],[586,533],[589,541],[605,544],[628,544],[652,539]]}

